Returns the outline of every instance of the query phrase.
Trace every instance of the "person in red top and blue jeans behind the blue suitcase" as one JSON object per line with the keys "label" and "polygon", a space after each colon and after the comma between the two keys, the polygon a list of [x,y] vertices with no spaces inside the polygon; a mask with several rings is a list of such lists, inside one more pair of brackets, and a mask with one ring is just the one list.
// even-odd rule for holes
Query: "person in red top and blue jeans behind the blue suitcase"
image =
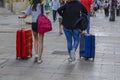
{"label": "person in red top and blue jeans behind the blue suitcase", "polygon": [[90,15],[91,15],[91,6],[94,0],[80,0],[80,2],[86,7],[88,11],[88,26],[87,26],[87,33],[90,33]]}

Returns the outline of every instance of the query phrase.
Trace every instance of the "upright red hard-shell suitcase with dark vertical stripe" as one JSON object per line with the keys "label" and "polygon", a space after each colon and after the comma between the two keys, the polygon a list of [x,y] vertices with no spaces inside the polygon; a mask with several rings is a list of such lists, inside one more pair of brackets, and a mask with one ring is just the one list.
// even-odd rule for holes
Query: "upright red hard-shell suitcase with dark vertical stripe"
{"label": "upright red hard-shell suitcase with dark vertical stripe", "polygon": [[32,57],[32,31],[30,28],[16,32],[16,59]]}

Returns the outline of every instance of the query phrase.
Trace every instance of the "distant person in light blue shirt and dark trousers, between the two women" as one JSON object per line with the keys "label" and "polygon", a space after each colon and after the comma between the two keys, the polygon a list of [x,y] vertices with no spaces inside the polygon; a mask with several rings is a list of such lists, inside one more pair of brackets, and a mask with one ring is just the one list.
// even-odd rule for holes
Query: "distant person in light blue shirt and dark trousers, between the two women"
{"label": "distant person in light blue shirt and dark trousers, between the two women", "polygon": [[52,0],[51,7],[52,7],[52,14],[53,14],[53,22],[55,22],[57,19],[57,9],[60,7],[59,0]]}

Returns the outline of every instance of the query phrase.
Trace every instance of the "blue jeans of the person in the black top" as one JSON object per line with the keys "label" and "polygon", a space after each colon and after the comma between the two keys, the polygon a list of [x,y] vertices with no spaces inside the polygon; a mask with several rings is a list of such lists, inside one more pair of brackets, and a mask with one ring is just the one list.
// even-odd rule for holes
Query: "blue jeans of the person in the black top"
{"label": "blue jeans of the person in the black top", "polygon": [[79,29],[67,29],[63,28],[66,39],[67,39],[67,48],[68,48],[68,53],[71,53],[71,50],[77,49],[79,45],[79,40],[80,40],[80,30]]}

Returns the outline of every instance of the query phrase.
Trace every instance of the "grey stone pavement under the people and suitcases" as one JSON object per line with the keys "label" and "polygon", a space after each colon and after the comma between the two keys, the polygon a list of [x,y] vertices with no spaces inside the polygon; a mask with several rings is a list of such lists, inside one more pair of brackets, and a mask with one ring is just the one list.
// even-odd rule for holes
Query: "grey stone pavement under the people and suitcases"
{"label": "grey stone pavement under the people and suitcases", "polygon": [[53,23],[53,30],[45,34],[42,64],[34,64],[34,58],[16,60],[17,17],[0,15],[0,80],[120,80],[120,17],[115,22],[103,13],[91,17],[91,33],[96,35],[94,62],[79,59],[78,49],[77,60],[69,63],[65,36],[58,35],[58,22]]}

